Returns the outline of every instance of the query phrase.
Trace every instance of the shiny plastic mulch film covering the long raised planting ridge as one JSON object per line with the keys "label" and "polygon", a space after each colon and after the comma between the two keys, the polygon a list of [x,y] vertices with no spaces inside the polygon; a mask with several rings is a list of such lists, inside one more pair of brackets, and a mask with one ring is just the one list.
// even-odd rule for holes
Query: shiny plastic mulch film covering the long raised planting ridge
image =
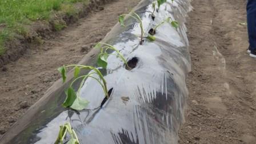
{"label": "shiny plastic mulch film covering the long raised planting ridge", "polygon": [[[178,21],[179,27],[165,23],[157,29],[156,41],[145,40],[143,45],[139,45],[139,24],[132,18],[125,20],[126,27],[116,25],[107,34],[104,42],[125,58],[138,61],[134,69],[126,70],[119,58],[110,55],[107,70],[101,71],[113,91],[102,108],[105,95],[93,79],[87,79],[81,90],[81,96],[90,101],[87,110],[78,113],[62,108],[64,90],[72,78],[69,74],[69,82],[56,82],[0,143],[54,143],[59,126],[66,122],[71,123],[80,143],[178,143],[188,95],[185,81],[190,55],[185,17],[191,10],[190,0],[167,0],[155,13],[155,21],[150,16],[151,3],[143,0],[134,9],[146,32],[167,17]],[[95,66],[98,52],[94,49],[80,63]],[[127,101],[123,97],[128,97]]]}

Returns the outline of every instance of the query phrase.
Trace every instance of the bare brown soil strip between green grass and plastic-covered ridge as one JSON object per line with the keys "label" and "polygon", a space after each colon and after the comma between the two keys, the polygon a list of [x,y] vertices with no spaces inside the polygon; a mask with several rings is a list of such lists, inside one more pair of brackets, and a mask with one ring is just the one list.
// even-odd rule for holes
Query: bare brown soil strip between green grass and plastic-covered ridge
{"label": "bare brown soil strip between green grass and plastic-covered ridge", "polygon": [[78,63],[139,0],[115,0],[43,40],[43,45],[0,69],[0,137],[43,96],[60,75],[61,65]]}

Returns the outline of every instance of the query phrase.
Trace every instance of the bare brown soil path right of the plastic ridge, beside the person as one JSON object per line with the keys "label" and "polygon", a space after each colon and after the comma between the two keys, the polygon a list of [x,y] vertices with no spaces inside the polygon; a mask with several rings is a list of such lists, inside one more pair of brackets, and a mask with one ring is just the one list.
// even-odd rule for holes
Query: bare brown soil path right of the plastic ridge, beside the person
{"label": "bare brown soil path right of the plastic ridge, beside the person", "polygon": [[179,143],[256,143],[256,59],[246,53],[245,0],[193,0],[192,71]]}

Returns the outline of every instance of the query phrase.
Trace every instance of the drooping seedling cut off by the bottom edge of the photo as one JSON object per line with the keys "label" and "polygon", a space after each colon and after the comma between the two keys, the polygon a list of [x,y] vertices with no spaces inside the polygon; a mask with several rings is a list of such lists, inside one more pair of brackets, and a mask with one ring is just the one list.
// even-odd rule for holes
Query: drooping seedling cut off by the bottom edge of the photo
{"label": "drooping seedling cut off by the bottom edge of the photo", "polygon": [[67,133],[69,133],[71,137],[67,142],[68,144],[79,144],[77,134],[75,133],[74,129],[72,129],[70,123],[65,123],[64,125],[59,126],[59,135],[54,144],[63,144],[63,140]]}

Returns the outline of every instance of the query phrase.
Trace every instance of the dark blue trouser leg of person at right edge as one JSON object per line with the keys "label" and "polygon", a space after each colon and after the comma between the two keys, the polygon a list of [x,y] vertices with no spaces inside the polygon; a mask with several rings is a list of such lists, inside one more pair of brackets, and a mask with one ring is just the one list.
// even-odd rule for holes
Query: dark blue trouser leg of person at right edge
{"label": "dark blue trouser leg of person at right edge", "polygon": [[256,51],[256,0],[247,2],[247,26],[251,50]]}

